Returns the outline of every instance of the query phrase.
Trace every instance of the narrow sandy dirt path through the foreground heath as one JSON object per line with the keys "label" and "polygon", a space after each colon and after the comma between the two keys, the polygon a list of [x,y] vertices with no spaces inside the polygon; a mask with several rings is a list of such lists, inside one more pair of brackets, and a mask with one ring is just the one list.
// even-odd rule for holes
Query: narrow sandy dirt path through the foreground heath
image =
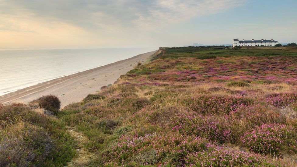
{"label": "narrow sandy dirt path through the foreground heath", "polygon": [[73,127],[68,127],[68,132],[76,138],[78,143],[78,148],[76,149],[78,155],[73,158],[66,166],[86,166],[90,160],[95,157],[95,154],[86,150],[83,143],[89,141],[89,138],[84,136],[82,133],[76,132]]}

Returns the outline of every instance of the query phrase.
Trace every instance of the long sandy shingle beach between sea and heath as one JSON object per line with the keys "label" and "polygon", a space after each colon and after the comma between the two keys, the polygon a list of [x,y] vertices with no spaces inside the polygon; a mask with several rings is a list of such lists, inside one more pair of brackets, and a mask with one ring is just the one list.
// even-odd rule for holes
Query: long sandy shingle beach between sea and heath
{"label": "long sandy shingle beach between sea and heath", "polygon": [[56,78],[34,86],[20,89],[0,96],[0,103],[28,103],[43,95],[56,95],[61,100],[61,108],[80,102],[90,93],[100,91],[104,85],[113,84],[121,75],[130,71],[138,62],[145,62],[156,51],[82,71],[76,74]]}

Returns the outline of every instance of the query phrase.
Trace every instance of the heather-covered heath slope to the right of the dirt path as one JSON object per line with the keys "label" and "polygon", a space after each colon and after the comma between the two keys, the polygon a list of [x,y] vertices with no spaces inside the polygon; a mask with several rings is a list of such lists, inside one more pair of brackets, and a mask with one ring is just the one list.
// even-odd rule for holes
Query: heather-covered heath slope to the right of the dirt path
{"label": "heather-covered heath slope to the right of the dirt path", "polygon": [[[242,165],[203,161],[206,155],[256,165],[294,163],[296,56],[297,49],[288,47],[167,48],[58,117],[90,139],[84,146],[98,155],[92,166]],[[268,133],[263,124],[275,126],[272,137],[282,136],[286,144],[271,139],[264,142],[277,148],[259,149],[259,143],[243,141],[257,127]],[[279,133],[290,128],[287,141]]]}

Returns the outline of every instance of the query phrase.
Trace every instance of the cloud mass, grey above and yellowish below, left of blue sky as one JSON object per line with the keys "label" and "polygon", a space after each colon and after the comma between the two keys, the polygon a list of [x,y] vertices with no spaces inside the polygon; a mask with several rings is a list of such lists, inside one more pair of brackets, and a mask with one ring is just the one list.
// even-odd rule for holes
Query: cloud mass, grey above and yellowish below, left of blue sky
{"label": "cloud mass, grey above and yellowish below, left of blue sky", "polygon": [[127,38],[141,42],[149,38],[150,33],[159,32],[162,27],[223,12],[243,2],[0,0],[0,44],[128,45]]}

